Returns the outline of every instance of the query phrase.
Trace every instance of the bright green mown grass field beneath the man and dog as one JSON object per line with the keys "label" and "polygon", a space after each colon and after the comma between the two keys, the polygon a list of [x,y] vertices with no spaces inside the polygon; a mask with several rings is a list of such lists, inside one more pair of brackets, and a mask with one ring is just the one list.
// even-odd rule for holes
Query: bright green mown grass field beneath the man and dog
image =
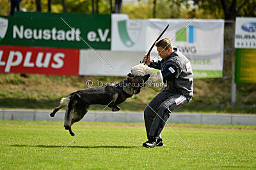
{"label": "bright green mown grass field beneath the man and dog", "polygon": [[[76,136],[86,124],[74,125]],[[195,152],[168,127],[165,147],[143,148],[143,124],[100,122],[61,152],[73,139],[63,122],[0,120],[0,169],[256,168],[255,125],[170,125]]]}

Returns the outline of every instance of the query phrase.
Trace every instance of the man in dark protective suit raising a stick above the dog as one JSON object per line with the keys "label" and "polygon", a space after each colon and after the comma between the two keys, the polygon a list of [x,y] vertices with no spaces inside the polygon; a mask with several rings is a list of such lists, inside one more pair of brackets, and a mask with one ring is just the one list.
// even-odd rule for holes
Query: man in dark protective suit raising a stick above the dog
{"label": "man in dark protective suit raising a stick above the dog", "polygon": [[190,103],[193,98],[193,73],[189,60],[172,46],[170,39],[156,42],[158,55],[162,60],[150,62],[145,55],[143,62],[149,67],[160,69],[167,86],[157,94],[144,110],[145,127],[148,141],[142,146],[153,148],[164,146],[161,132],[170,113]]}

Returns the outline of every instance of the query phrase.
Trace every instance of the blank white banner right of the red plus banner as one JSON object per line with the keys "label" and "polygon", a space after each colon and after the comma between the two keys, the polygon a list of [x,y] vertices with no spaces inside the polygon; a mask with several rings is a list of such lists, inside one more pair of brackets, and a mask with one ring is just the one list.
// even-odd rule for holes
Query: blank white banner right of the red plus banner
{"label": "blank white banner right of the red plus banner", "polygon": [[111,52],[80,50],[79,75],[127,76],[139,64],[144,52]]}

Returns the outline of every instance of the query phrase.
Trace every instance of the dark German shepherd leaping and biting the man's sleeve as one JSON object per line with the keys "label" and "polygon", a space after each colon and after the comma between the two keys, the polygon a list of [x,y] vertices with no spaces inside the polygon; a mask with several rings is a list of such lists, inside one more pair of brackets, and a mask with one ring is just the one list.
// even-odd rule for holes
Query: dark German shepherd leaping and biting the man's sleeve
{"label": "dark German shepherd leaping and biting the man's sleeve", "polygon": [[138,94],[141,87],[144,87],[144,83],[148,80],[150,74],[134,76],[129,73],[127,76],[127,79],[119,83],[78,90],[67,97],[63,97],[60,101],[60,106],[55,108],[50,116],[54,117],[57,111],[67,106],[64,127],[71,136],[74,136],[75,134],[72,132],[71,126],[84,117],[91,104],[108,105],[112,111],[119,111],[120,108],[117,104],[123,103],[127,98],[132,97],[133,94]]}

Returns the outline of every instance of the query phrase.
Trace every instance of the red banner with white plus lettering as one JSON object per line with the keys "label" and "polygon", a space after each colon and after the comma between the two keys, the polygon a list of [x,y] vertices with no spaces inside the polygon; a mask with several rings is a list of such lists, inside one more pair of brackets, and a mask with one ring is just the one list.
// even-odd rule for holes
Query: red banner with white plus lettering
{"label": "red banner with white plus lettering", "polygon": [[0,46],[0,73],[78,76],[79,50]]}

